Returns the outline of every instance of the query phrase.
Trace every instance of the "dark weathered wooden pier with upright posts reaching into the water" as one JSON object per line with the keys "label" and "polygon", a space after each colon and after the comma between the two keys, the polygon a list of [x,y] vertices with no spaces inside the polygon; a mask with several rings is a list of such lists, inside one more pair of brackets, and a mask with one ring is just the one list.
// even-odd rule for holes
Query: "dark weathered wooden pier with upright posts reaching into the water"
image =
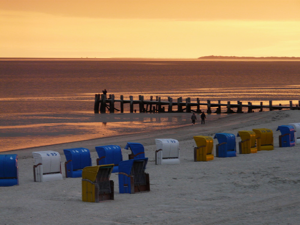
{"label": "dark weathered wooden pier with upright posts reaching into the water", "polygon": [[[129,96],[129,100],[125,100],[123,95],[120,96],[120,99],[116,99],[115,95],[95,95],[95,105],[94,112],[95,113],[106,113],[108,110],[110,113],[114,113],[115,110],[121,113],[124,112],[124,104],[129,104],[130,113],[136,112],[134,110],[134,105],[139,106],[140,113],[201,113],[200,106],[207,106],[206,113],[244,113],[243,108],[247,108],[247,113],[252,113],[254,109],[259,109],[259,111],[263,111],[264,108],[268,110],[299,110],[298,107],[300,105],[300,100],[298,104],[293,106],[292,101],[289,101],[289,106],[283,106],[279,104],[278,106],[274,106],[272,101],[269,101],[268,105],[263,105],[263,102],[260,102],[260,105],[253,105],[251,102],[247,102],[247,104],[243,104],[241,101],[237,101],[236,104],[232,104],[230,101],[227,103],[211,103],[210,100],[207,100],[205,103],[201,103],[199,98],[197,98],[196,102],[191,102],[191,98],[185,98],[183,101],[182,97],[177,98],[175,101],[171,97],[167,97],[168,101],[161,101],[161,97],[156,96],[154,99],[153,96],[150,96],[150,100],[145,100],[143,95],[139,95],[138,100],[134,100],[133,96]],[[115,108],[115,103],[120,103],[120,109]],[[174,107],[174,108],[173,108]],[[221,112],[221,107],[225,108],[225,112]],[[212,108],[214,109],[212,111]],[[233,111],[236,109],[236,111]]]}

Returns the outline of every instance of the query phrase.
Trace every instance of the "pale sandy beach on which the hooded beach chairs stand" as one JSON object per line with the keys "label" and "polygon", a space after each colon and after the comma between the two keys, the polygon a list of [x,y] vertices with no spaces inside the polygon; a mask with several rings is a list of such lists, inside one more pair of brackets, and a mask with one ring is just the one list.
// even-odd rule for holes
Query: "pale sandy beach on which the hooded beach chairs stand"
{"label": "pale sandy beach on which the hooded beach chairs stand", "polygon": [[[299,111],[211,116],[205,125],[198,120],[195,126],[2,152],[18,154],[19,185],[0,187],[0,224],[300,224],[300,145],[279,148],[276,131],[278,125],[300,122]],[[193,136],[253,128],[273,131],[274,150],[193,161]],[[179,140],[180,164],[155,165],[155,138]],[[238,149],[240,138],[236,141]],[[65,178],[64,167],[63,180],[33,181],[33,151],[57,151],[63,166],[63,149],[85,147],[96,165],[95,146],[119,145],[126,160],[127,142],[145,147],[150,192],[120,194],[114,173],[115,200],[82,202],[81,178]]]}

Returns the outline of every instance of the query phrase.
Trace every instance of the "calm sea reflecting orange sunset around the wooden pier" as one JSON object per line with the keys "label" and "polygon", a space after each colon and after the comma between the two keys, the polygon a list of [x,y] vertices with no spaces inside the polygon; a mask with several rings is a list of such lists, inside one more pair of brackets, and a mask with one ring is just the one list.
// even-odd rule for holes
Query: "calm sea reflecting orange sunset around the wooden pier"
{"label": "calm sea reflecting orange sunset around the wooden pier", "polygon": [[2,58],[0,84],[0,152],[5,152],[190,125],[187,113],[131,118],[125,108],[122,114],[95,114],[95,94],[104,88],[116,99],[295,105],[300,61]]}

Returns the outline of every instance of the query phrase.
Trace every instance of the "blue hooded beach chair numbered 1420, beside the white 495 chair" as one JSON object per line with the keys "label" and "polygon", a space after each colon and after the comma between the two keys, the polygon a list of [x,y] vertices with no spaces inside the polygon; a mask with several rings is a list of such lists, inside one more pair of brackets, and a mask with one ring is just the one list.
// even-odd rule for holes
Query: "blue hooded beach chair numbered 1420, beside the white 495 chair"
{"label": "blue hooded beach chair numbered 1420, beside the white 495 chair", "polygon": [[81,177],[82,169],[92,165],[90,151],[86,148],[64,149],[64,155],[66,177]]}

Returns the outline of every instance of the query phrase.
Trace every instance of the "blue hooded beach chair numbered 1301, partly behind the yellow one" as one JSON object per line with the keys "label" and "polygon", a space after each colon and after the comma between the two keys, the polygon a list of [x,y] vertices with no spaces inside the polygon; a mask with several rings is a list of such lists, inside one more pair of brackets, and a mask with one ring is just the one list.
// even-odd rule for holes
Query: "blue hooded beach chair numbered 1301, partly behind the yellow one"
{"label": "blue hooded beach chair numbered 1301, partly behind the yellow one", "polygon": [[123,161],[122,150],[118,145],[105,145],[95,147],[98,154],[97,164],[114,164],[113,173],[119,171],[119,163]]}

